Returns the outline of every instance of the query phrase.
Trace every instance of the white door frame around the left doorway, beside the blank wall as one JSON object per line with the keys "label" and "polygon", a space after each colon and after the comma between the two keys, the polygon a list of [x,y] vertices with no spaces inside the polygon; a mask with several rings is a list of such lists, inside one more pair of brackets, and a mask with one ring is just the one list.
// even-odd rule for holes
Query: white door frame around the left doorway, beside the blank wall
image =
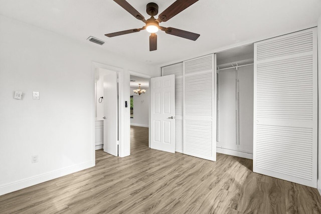
{"label": "white door frame around the left doorway, beside the blank wall", "polygon": [[123,85],[124,85],[124,81],[123,81],[123,73],[124,73],[124,70],[121,69],[121,68],[117,68],[117,67],[114,67],[114,66],[110,66],[110,65],[106,65],[106,64],[102,64],[102,63],[98,63],[98,62],[94,62],[92,61],[92,104],[91,104],[91,108],[92,108],[92,123],[91,123],[91,139],[92,139],[92,148],[93,148],[93,152],[92,152],[92,159],[93,161],[95,162],[95,121],[96,121],[96,99],[95,99],[95,82],[96,82],[96,70],[98,68],[101,68],[101,69],[106,69],[108,71],[113,71],[113,72],[116,72],[117,73],[117,76],[118,76],[118,156],[122,157],[122,156],[125,156],[124,154],[124,126],[125,126],[125,123],[122,122],[124,121],[123,118],[124,118],[124,112],[125,112],[125,109],[124,109],[124,106],[121,105],[121,103],[123,103],[123,93],[124,93],[124,89],[123,89]]}

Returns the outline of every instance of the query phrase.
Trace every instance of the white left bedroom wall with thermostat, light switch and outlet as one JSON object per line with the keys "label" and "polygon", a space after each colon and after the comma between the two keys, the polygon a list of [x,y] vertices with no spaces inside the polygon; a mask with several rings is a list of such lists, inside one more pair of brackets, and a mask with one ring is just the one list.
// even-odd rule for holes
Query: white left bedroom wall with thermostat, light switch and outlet
{"label": "white left bedroom wall with thermostat, light switch and outlet", "polygon": [[[0,47],[0,195],[95,164],[93,61],[123,69],[122,101],[129,102],[129,69],[160,75],[96,44],[3,16]],[[22,100],[13,99],[15,90]],[[129,121],[122,130],[128,143]],[[130,153],[129,145],[123,152]],[[32,164],[36,154],[39,162]]]}

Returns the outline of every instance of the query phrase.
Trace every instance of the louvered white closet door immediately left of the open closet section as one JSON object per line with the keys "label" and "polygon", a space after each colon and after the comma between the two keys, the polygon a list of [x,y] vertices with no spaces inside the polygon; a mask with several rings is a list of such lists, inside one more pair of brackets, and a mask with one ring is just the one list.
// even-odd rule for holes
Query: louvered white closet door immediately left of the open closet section
{"label": "louvered white closet door immediately left of the open closet section", "polygon": [[183,65],[184,154],[216,160],[214,55],[184,61]]}

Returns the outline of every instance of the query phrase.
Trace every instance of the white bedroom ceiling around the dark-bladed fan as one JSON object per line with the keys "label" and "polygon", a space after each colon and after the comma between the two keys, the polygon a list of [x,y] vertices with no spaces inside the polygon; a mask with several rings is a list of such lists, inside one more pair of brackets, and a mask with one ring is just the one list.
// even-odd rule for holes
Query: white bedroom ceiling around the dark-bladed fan
{"label": "white bedroom ceiling around the dark-bladed fan", "polygon": [[[146,4],[150,0],[127,2],[145,19],[149,18]],[[175,0],[153,2],[161,13]],[[189,59],[244,41],[316,26],[321,14],[320,0],[201,0],[161,23],[164,27],[198,33],[200,38],[191,41],[158,32],[157,50],[149,52],[146,31],[113,38],[104,36],[144,26],[111,0],[0,0],[0,6],[3,16],[88,44],[86,39],[93,36],[106,43],[101,47],[89,45],[150,65]]]}

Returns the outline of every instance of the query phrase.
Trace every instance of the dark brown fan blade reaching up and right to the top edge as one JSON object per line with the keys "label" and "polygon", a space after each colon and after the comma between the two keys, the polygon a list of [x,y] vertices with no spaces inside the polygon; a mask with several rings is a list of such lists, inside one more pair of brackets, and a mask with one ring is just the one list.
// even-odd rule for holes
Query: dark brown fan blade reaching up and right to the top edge
{"label": "dark brown fan blade reaching up and right to the top edge", "polygon": [[173,18],[175,15],[181,13],[198,0],[177,0],[170,7],[168,7],[163,13],[159,14],[157,22],[166,22]]}

